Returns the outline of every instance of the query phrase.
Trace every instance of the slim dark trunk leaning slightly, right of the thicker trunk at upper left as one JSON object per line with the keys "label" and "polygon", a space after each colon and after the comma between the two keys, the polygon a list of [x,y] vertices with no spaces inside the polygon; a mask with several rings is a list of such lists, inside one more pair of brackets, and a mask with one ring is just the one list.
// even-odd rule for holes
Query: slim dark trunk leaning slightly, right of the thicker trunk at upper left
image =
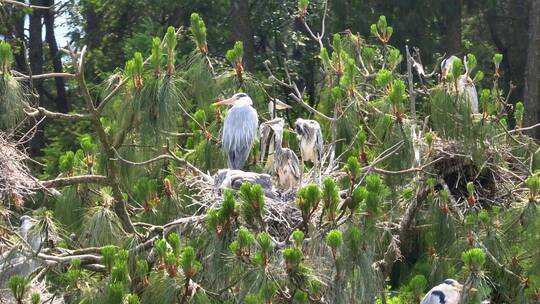
{"label": "slim dark trunk leaning slightly, right of the thicker trunk at upper left", "polygon": [[[53,6],[54,0],[45,0],[45,6]],[[60,53],[58,52],[58,44],[56,43],[56,36],[54,35],[54,12],[52,10],[45,13],[45,40],[49,45],[49,52],[51,56],[51,62],[55,73],[62,73],[62,60]],[[64,78],[56,77],[54,79],[56,85],[56,109],[60,113],[67,113],[69,111],[69,105],[66,97],[66,85]]]}

